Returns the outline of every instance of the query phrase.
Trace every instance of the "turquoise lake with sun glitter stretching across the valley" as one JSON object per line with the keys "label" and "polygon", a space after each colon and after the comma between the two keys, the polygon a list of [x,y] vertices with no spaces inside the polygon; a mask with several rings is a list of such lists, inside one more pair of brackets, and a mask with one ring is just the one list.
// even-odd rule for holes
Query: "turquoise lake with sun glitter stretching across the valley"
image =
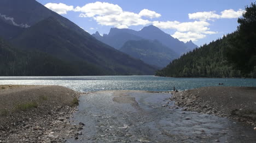
{"label": "turquoise lake with sun glitter stretching across the valley", "polygon": [[[218,85],[223,83],[224,85]],[[188,90],[203,86],[256,86],[256,79],[155,76],[0,77],[1,84],[61,85],[79,92],[100,90]]]}

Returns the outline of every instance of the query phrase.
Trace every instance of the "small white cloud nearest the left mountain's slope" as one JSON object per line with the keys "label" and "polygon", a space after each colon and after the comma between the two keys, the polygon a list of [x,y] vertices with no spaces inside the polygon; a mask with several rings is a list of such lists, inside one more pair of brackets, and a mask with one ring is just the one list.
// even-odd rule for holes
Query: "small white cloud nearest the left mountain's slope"
{"label": "small white cloud nearest the left mountain's slope", "polygon": [[47,3],[44,6],[50,10],[55,11],[58,14],[67,14],[67,11],[72,11],[74,9],[72,5],[68,6],[63,3]]}

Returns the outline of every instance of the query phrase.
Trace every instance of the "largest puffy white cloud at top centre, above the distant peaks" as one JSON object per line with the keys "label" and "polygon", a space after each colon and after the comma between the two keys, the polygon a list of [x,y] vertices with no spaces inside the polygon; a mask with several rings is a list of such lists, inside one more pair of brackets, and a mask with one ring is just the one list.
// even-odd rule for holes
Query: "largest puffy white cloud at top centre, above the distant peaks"
{"label": "largest puffy white cloud at top centre, above the distant peaks", "polygon": [[117,4],[111,4],[106,2],[95,2],[84,5],[84,7],[77,7],[74,11],[79,11],[81,14],[79,17],[92,17],[94,20],[103,26],[114,26],[117,28],[129,28],[129,26],[147,25],[151,23],[148,20],[141,18],[147,17],[159,17],[160,14],[154,11],[149,11],[149,14],[143,14],[146,9],[142,10],[141,15],[131,13],[129,11],[123,11]]}

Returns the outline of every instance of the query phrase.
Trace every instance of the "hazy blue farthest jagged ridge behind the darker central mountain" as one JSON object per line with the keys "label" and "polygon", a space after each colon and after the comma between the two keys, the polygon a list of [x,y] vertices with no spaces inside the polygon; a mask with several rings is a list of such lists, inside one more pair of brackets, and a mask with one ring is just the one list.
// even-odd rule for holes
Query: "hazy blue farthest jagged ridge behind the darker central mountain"
{"label": "hazy blue farthest jagged ridge behind the darker central mountain", "polygon": [[108,34],[101,36],[98,32],[92,34],[96,39],[116,48],[120,49],[125,42],[129,40],[158,40],[166,47],[172,49],[178,55],[187,53],[191,49],[197,48],[191,40],[187,43],[173,38],[171,35],[166,34],[158,27],[153,25],[142,28],[139,31],[132,29],[118,29],[111,28]]}

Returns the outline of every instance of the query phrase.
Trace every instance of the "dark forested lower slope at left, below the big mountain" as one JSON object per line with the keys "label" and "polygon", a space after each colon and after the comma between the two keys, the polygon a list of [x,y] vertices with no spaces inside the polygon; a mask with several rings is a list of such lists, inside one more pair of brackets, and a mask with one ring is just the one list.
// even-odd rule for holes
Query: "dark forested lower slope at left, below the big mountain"
{"label": "dark forested lower slope at left, below the big mountain", "polygon": [[[0,39],[0,76],[82,76],[104,74],[87,63],[68,63],[42,52],[11,48]],[[91,71],[94,71],[92,74]]]}

